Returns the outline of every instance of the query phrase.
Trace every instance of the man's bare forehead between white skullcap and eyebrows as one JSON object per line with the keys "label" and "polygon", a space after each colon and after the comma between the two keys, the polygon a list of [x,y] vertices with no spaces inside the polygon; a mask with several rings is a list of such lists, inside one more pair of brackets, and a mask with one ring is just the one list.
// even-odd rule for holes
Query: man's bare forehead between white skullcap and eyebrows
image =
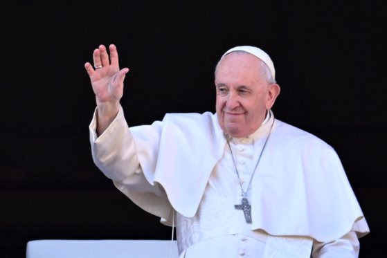
{"label": "man's bare forehead between white skullcap and eyebrows", "polygon": [[238,51],[225,55],[217,65],[215,81],[258,80],[262,61],[246,52]]}

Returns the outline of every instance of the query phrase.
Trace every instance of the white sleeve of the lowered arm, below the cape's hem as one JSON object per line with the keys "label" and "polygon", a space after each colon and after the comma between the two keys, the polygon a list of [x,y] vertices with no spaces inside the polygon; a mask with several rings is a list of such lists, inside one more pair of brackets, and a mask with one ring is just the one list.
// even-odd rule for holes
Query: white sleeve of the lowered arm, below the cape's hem
{"label": "white sleeve of the lowered arm, below the cape's hem", "polygon": [[359,257],[359,239],[354,231],[350,231],[340,239],[321,243],[314,241],[313,258],[353,258]]}

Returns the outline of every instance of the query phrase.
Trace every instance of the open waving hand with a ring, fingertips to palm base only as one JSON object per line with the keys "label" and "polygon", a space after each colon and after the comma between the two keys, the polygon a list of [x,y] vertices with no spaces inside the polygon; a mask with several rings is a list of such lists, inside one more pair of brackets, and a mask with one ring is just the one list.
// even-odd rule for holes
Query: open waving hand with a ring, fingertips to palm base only
{"label": "open waving hand with a ring, fingertips to palm base only", "polygon": [[104,45],[100,45],[93,52],[93,66],[89,62],[84,64],[91,80],[91,86],[96,94],[97,105],[118,104],[123,97],[123,85],[128,68],[120,70],[118,64],[117,48],[113,44],[109,46],[109,55]]}

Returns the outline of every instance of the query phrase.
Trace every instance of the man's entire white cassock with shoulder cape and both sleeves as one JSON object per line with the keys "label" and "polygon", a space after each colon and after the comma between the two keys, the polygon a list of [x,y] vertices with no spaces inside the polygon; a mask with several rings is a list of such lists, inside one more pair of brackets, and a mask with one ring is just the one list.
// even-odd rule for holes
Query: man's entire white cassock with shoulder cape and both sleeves
{"label": "man's entire white cassock with shoulder cape and both sleeves", "polygon": [[97,138],[93,160],[138,206],[172,225],[177,212],[180,257],[357,257],[369,232],[332,147],[273,114],[246,138],[231,139],[242,187],[247,185],[271,124],[248,199],[226,136],[213,113],[167,114],[152,125],[127,127],[117,118]]}

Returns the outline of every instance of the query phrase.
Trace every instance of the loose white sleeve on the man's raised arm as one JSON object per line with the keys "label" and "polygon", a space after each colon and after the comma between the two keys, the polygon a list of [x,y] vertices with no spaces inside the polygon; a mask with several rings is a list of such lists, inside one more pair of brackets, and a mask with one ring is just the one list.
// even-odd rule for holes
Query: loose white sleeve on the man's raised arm
{"label": "loose white sleeve on the man's raised arm", "polygon": [[[147,126],[146,127],[148,130]],[[157,131],[157,130],[156,130]],[[134,136],[127,126],[123,109],[109,127],[98,137],[96,112],[89,126],[91,154],[96,166],[110,178],[114,185],[141,208],[168,219],[170,205],[159,184],[150,183],[138,161]]]}

